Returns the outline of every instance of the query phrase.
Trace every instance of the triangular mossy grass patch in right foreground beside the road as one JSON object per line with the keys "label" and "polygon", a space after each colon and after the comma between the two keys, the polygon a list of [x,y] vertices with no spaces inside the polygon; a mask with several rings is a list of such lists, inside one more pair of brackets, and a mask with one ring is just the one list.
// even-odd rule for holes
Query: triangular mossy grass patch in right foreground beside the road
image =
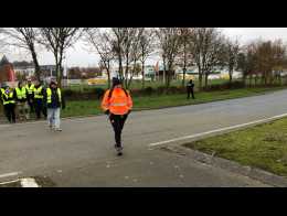
{"label": "triangular mossy grass patch in right foreground beside the road", "polygon": [[287,118],[185,147],[287,176]]}

